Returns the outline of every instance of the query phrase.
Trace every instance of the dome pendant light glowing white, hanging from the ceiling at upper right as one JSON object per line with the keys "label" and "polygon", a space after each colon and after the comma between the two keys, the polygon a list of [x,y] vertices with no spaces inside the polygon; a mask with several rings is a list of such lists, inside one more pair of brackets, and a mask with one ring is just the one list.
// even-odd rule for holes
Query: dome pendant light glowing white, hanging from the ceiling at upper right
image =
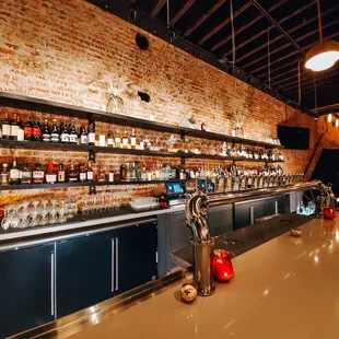
{"label": "dome pendant light glowing white, hanging from the ceiling at upper right", "polygon": [[320,0],[317,0],[319,44],[313,46],[306,54],[305,67],[319,72],[331,68],[339,60],[339,43],[335,40],[323,42]]}

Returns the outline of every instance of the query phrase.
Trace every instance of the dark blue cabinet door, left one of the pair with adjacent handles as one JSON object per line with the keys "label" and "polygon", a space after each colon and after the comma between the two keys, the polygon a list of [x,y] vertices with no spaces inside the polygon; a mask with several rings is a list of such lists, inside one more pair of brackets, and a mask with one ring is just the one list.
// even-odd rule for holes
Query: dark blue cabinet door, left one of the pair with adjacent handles
{"label": "dark blue cabinet door, left one of the pair with adjacent handles", "polygon": [[105,233],[57,243],[58,317],[113,295],[112,255],[112,241]]}

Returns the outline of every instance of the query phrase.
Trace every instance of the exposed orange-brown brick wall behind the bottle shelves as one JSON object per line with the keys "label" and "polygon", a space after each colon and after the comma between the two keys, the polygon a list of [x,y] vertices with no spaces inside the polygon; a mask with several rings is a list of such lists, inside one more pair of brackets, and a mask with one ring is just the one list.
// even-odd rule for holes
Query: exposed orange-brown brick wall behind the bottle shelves
{"label": "exposed orange-brown brick wall behind the bottle shelves", "polygon": [[[315,140],[324,128],[323,121],[317,122],[285,107],[145,32],[150,48],[140,50],[135,44],[138,32],[141,30],[82,0],[2,0],[0,90],[102,109],[106,107],[107,87],[113,80],[121,87],[135,83],[151,96],[151,102],[144,103],[122,91],[125,105],[118,113],[124,115],[141,118],[153,115],[157,121],[178,125],[194,114],[199,125],[204,121],[211,131],[230,135],[234,126],[232,115],[241,112],[245,116],[246,137],[258,140],[267,136],[274,138],[279,124],[309,127],[309,151],[283,151],[285,172],[305,170]],[[0,112],[2,115],[5,109]],[[107,129],[107,124],[98,126],[98,131]],[[329,129],[326,140],[336,142],[338,131],[332,127]],[[143,133],[138,131],[139,136]],[[159,136],[148,133],[154,138]],[[31,162],[38,159],[42,163],[46,163],[49,156],[66,163],[74,156],[83,161],[84,156],[61,152],[54,155],[16,152],[17,156],[31,157]],[[0,162],[8,160],[9,155],[9,150],[2,150]],[[121,157],[98,156],[98,162],[113,164],[117,170]],[[173,164],[177,162],[177,159],[171,160]],[[149,194],[149,190],[142,191]]]}

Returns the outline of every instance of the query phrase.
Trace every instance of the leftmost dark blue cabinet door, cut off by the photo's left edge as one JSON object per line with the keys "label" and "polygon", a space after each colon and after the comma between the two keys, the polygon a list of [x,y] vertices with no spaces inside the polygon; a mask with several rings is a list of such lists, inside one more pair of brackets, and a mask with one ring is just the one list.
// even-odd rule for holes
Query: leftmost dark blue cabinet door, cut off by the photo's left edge
{"label": "leftmost dark blue cabinet door, cut off by the photo's left edge", "polygon": [[55,319],[54,244],[0,252],[0,338]]}

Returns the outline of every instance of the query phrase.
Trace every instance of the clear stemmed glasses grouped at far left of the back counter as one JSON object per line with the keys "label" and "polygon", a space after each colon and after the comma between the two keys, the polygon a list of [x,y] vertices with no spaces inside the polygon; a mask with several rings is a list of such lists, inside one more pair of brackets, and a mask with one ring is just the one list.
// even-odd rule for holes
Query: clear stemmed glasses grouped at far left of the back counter
{"label": "clear stemmed glasses grouped at far left of the back counter", "polygon": [[26,229],[65,223],[78,213],[74,199],[23,201],[4,207],[1,229]]}

